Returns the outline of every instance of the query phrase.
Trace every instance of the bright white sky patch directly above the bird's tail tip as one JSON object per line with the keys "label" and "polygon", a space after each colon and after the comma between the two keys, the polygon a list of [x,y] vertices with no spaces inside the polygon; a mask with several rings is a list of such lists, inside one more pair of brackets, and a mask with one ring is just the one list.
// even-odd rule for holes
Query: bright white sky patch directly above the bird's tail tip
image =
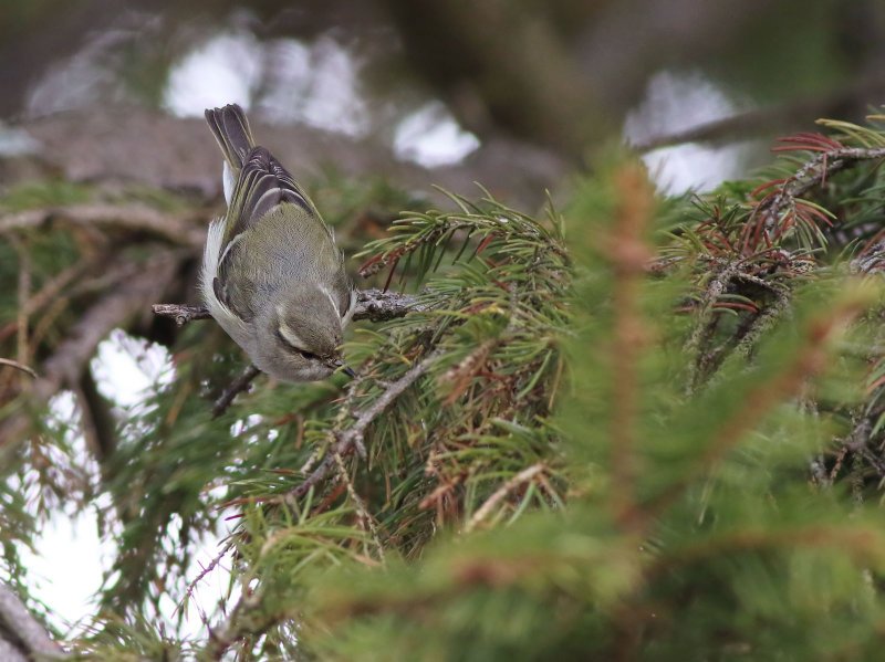
{"label": "bright white sky patch directly above the bird's tail tip", "polygon": [[180,117],[202,117],[206,108],[230,103],[248,108],[260,80],[262,52],[252,34],[219,34],[171,69],[163,105]]}

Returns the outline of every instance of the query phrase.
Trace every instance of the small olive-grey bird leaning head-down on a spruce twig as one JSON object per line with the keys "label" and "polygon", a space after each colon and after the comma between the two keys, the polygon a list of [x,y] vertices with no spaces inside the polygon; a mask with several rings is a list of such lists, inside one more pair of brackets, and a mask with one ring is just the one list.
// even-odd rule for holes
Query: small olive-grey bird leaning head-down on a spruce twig
{"label": "small olive-grey bird leaning head-down on a spruce twig", "polygon": [[344,256],[292,176],[259,147],[242,108],[206,111],[225,156],[228,211],[209,225],[206,306],[257,368],[288,381],[344,367],[339,346],[356,292]]}

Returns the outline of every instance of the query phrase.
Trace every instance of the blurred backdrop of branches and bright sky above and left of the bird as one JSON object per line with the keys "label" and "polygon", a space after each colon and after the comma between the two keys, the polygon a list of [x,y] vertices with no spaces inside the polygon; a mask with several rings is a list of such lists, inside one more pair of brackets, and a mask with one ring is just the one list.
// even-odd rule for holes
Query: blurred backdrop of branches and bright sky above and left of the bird
{"label": "blurred backdrop of branches and bright sky above and left of the bird", "polygon": [[[0,578],[23,563],[73,621],[106,570],[113,421],[174,377],[149,304],[195,301],[223,209],[206,107],[246,107],[353,254],[434,185],[534,213],[615,143],[670,193],[746,176],[777,136],[876,109],[884,49],[877,0],[4,0],[0,356],[37,368],[64,452],[15,455],[2,503],[37,554]],[[59,219],[70,237],[28,235]],[[11,375],[0,442],[27,438]]]}

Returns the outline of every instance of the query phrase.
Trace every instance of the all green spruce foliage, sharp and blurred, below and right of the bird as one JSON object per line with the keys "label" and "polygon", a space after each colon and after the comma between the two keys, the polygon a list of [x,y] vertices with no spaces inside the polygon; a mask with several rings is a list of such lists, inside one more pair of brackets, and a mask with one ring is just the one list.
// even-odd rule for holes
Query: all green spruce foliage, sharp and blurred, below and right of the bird
{"label": "all green spruce foliage, sharp and blurred, below and right of the bird", "polygon": [[[362,273],[418,305],[355,326],[353,380],[260,377],[212,419],[242,359],[190,324],[104,466],[80,652],[876,659],[885,139],[830,127],[708,197],[610,154],[543,220],[404,212]],[[211,635],[152,629],[222,521]]]}

